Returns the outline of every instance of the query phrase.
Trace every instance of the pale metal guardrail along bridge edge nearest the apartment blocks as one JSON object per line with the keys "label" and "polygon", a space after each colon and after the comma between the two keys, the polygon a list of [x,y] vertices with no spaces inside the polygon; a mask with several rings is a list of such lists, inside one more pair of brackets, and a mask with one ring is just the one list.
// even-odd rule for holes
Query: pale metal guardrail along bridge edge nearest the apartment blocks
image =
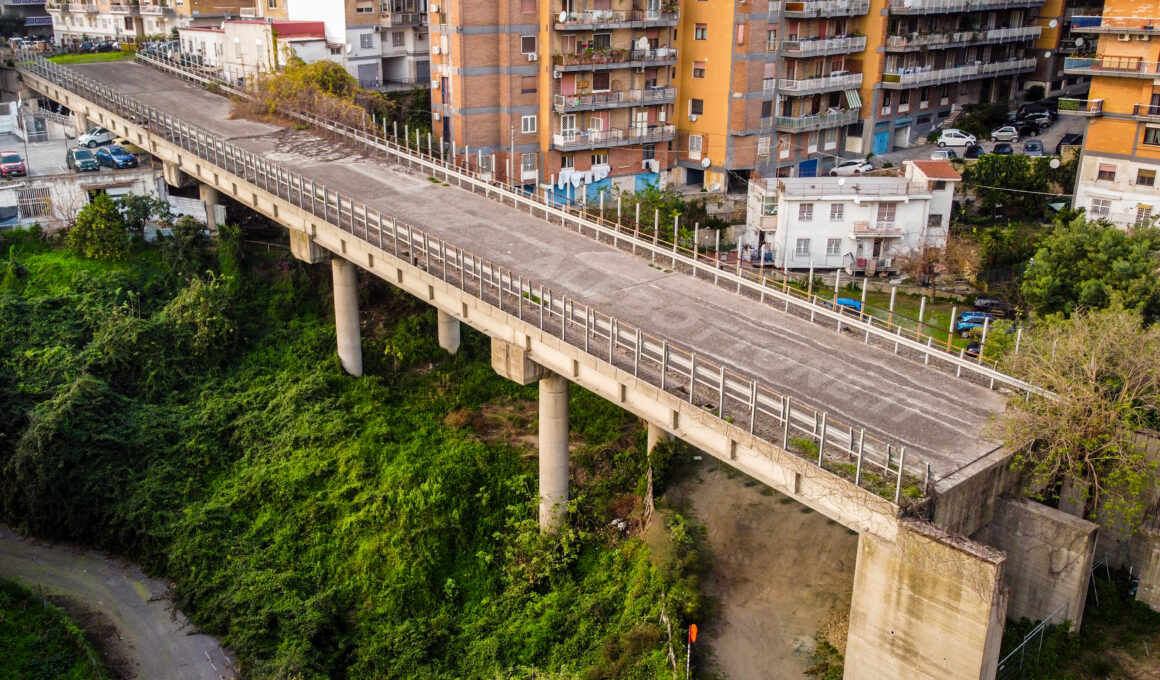
{"label": "pale metal guardrail along bridge edge nearest the apartment blocks", "polygon": [[[137,59],[167,70],[179,78],[201,85],[217,85],[223,91],[230,92],[235,96],[248,97],[248,94],[241,89],[224,87],[220,82],[208,79],[176,64],[168,64],[162,59],[146,57],[140,53],[137,55]],[[621,243],[629,244],[633,253],[639,249],[650,253],[653,260],[657,258],[670,260],[675,270],[712,280],[717,285],[734,289],[738,294],[744,294],[751,299],[766,303],[768,298],[770,304],[782,304],[786,312],[791,312],[800,318],[807,318],[815,323],[820,319],[820,323],[825,323],[826,325],[836,323],[839,330],[846,327],[864,332],[867,343],[871,343],[871,341],[877,342],[879,347],[892,348],[896,354],[905,349],[907,356],[911,359],[922,361],[927,366],[930,366],[930,362],[934,361],[936,366],[952,369],[959,377],[965,371],[977,382],[989,384],[991,388],[998,384],[1015,392],[1050,396],[1050,392],[1036,385],[1003,374],[992,366],[984,364],[981,357],[967,357],[963,350],[952,352],[949,342],[947,348],[943,349],[941,343],[935,343],[933,337],[921,333],[915,334],[913,330],[904,328],[901,325],[894,324],[889,319],[878,319],[875,317],[850,319],[848,316],[836,312],[829,306],[818,304],[817,296],[796,292],[788,284],[786,277],[783,277],[780,282],[770,280],[767,278],[764,269],[746,270],[740,267],[740,262],[738,262],[735,269],[723,269],[716,261],[706,260],[703,256],[698,258],[697,253],[689,248],[682,249],[680,245],[673,243],[665,244],[660,240],[659,230],[654,230],[652,239],[648,239],[647,237],[641,237],[639,227],[631,227],[622,224],[619,220],[612,222],[602,216],[589,215],[588,210],[593,208],[590,205],[580,207],[579,209],[571,205],[560,205],[556,202],[554,197],[539,190],[535,195],[529,196],[522,189],[492,181],[490,172],[477,173],[471,171],[470,167],[448,162],[443,158],[435,158],[430,152],[425,155],[421,153],[421,145],[418,139],[414,143],[405,140],[400,144],[398,138],[392,140],[386,137],[385,126],[384,133],[378,136],[378,131],[374,129],[355,130],[354,128],[335,124],[331,121],[322,121],[300,111],[287,113],[303,121],[312,122],[333,133],[355,139],[360,144],[364,143],[364,139],[371,138],[379,150],[394,155],[403,162],[418,164],[420,167],[432,171],[440,169],[440,172],[456,173],[456,179],[463,188],[470,188],[474,193],[481,193],[501,203],[512,203],[513,207],[524,208],[529,212],[543,211],[545,219],[558,219],[564,226],[572,224],[580,234],[583,234],[587,230],[596,240],[603,240],[617,247],[619,247]],[[430,149],[430,144],[428,144],[428,149]],[[639,219],[636,220],[638,225],[639,222]],[[955,319],[951,320],[952,327],[954,321]]]}

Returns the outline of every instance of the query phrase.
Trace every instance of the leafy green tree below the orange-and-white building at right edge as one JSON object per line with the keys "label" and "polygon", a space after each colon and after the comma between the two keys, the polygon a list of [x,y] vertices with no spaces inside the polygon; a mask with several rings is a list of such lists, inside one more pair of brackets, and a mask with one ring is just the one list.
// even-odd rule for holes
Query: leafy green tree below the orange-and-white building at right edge
{"label": "leafy green tree below the orange-and-white building at right edge", "polygon": [[1058,223],[1039,244],[1023,295],[1041,314],[1114,304],[1160,319],[1160,230],[1125,232],[1081,217]]}

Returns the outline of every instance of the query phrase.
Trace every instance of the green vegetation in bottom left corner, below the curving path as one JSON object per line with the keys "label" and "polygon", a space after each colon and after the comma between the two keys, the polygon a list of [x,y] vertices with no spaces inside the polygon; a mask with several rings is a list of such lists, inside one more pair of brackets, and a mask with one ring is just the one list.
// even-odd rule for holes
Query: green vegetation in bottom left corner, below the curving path
{"label": "green vegetation in bottom left corner, below the curving path", "polygon": [[68,616],[20,584],[0,579],[0,678],[107,678],[85,635]]}

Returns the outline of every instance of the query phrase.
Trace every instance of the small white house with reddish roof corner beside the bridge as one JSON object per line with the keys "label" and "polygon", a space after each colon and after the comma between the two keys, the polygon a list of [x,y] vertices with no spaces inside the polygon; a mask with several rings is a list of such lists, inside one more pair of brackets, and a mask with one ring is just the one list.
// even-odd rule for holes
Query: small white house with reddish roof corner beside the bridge
{"label": "small white house with reddish roof corner beside the bridge", "polygon": [[944,160],[906,161],[901,176],[756,179],[742,243],[778,268],[891,270],[898,255],[947,244],[960,180]]}

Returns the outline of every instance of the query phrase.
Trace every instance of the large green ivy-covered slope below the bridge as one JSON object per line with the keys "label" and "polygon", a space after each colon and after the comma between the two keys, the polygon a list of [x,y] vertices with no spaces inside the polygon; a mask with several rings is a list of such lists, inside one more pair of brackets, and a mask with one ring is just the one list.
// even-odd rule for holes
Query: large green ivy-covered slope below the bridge
{"label": "large green ivy-covered slope below the bridge", "polygon": [[701,562],[680,518],[664,558],[609,525],[640,513],[637,422],[573,388],[575,500],[543,537],[535,388],[485,338],[450,357],[364,278],[348,377],[329,268],[223,233],[111,262],[0,237],[5,521],[173,578],[254,678],[674,677]]}

